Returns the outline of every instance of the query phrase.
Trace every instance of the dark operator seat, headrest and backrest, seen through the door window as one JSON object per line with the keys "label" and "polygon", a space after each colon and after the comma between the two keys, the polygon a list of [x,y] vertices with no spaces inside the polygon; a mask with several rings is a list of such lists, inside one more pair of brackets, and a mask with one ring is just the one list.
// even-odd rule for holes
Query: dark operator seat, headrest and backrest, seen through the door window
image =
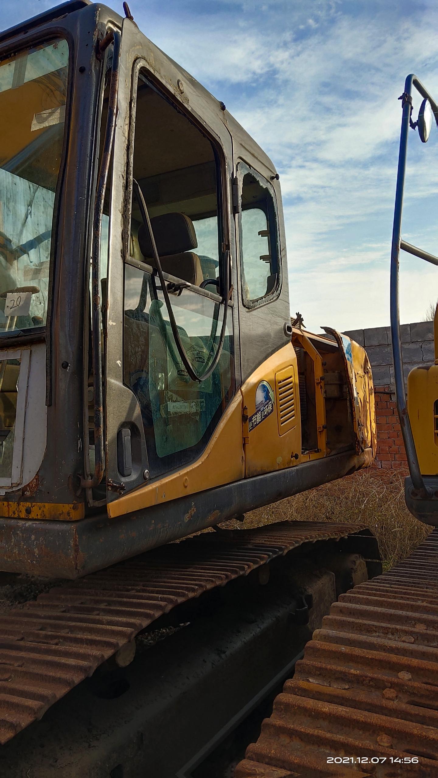
{"label": "dark operator seat, headrest and backrest, seen through the door window", "polygon": [[[200,286],[203,271],[200,258],[193,252],[198,241],[192,219],[185,213],[164,213],[162,216],[154,216],[150,224],[163,272]],[[138,242],[143,258],[155,268],[149,232],[143,224],[139,227]]]}

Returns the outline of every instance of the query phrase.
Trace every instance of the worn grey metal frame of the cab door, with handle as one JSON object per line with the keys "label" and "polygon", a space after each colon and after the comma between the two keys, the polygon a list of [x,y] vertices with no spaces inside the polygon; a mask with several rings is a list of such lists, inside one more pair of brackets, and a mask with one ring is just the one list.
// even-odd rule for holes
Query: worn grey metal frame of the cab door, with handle
{"label": "worn grey metal frame of the cab door, with handle", "polygon": [[[224,160],[222,195],[224,213],[224,240],[231,252],[231,282],[235,279],[235,232],[231,223],[232,145],[228,128],[221,120],[221,109],[214,99],[194,79],[189,79],[162,51],[140,33],[130,19],[122,24],[122,47],[119,61],[118,114],[115,125],[113,170],[111,180],[110,228],[108,240],[108,335],[105,359],[106,440],[105,462],[108,501],[116,499],[114,489],[134,489],[149,478],[147,447],[143,431],[140,405],[123,383],[123,296],[125,258],[129,256],[129,223],[132,202],[132,151],[135,129],[136,83],[140,69],[165,97],[176,104],[194,124],[203,128],[212,142],[221,149]],[[233,307],[233,319],[237,314]],[[233,321],[234,329],[236,322]],[[235,342],[236,388],[239,383],[238,338]],[[123,425],[135,429],[140,440],[141,467],[132,468],[126,478],[118,472],[117,435]]]}

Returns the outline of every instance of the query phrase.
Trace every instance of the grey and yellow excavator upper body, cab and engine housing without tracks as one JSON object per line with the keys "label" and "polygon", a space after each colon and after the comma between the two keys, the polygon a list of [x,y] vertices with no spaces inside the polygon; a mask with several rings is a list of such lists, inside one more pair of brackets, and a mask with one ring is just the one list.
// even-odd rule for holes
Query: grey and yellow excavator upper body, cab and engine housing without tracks
{"label": "grey and yellow excavator upper body, cab and engine housing without tracks", "polygon": [[366,353],[291,326],[279,176],[104,5],[0,34],[0,567],[76,578],[369,464]]}

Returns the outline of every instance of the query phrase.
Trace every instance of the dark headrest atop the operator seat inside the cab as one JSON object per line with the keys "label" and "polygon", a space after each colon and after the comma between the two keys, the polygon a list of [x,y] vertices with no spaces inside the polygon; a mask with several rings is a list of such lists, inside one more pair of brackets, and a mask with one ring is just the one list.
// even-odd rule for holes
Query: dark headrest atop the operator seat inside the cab
{"label": "dark headrest atop the operator seat inside the cab", "polygon": [[[198,245],[193,221],[189,216],[185,216],[185,213],[164,213],[162,216],[154,216],[154,219],[150,219],[150,224],[159,257],[181,254],[182,251],[193,251]],[[149,233],[143,224],[139,227],[138,241],[143,257],[151,258],[153,251]]]}

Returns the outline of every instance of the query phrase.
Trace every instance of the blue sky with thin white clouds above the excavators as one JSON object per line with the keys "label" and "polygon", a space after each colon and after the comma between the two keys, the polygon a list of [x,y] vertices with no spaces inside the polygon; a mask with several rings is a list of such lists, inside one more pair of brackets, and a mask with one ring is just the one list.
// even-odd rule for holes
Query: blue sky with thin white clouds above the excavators
{"label": "blue sky with thin white clouds above the excavators", "polygon": [[[49,8],[2,0],[0,29]],[[109,3],[122,12],[122,2]],[[131,0],[140,29],[226,103],[281,176],[291,310],[308,328],[389,324],[404,77],[438,99],[434,2]],[[419,99],[414,101],[415,118]],[[438,133],[411,132],[403,236],[438,254]],[[401,321],[422,319],[438,268],[401,257]]]}

